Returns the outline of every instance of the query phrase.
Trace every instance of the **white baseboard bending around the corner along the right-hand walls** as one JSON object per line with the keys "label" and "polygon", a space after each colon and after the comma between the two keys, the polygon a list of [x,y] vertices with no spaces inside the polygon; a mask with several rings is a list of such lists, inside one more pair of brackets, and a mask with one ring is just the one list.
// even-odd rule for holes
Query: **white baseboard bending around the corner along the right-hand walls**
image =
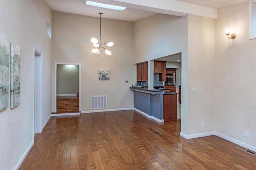
{"label": "white baseboard bending around the corner along the right-hand walls", "polygon": [[215,132],[215,131],[212,131],[212,132],[206,132],[206,133],[197,133],[197,134],[194,134],[194,135],[186,135],[182,132],[180,132],[180,136],[184,137],[185,139],[193,139],[193,138],[198,138],[198,137],[206,137],[206,136],[212,136],[212,135],[215,135],[215,136],[218,136],[222,139],[225,139],[227,141],[230,141],[232,143],[235,143],[237,145],[240,145],[242,147],[245,147],[249,150],[253,150],[254,152],[256,152],[256,147],[253,147],[251,145],[248,145],[246,143],[243,143],[241,141],[238,141],[236,139],[233,139],[231,137],[228,137],[226,135],[222,135],[221,133],[218,133],[218,132]]}

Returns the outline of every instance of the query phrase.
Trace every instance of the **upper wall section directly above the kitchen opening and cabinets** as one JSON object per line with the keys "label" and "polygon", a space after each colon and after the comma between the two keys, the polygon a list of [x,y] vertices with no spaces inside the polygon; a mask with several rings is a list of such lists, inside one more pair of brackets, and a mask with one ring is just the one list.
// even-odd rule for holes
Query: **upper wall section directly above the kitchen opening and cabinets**
{"label": "upper wall section directly above the kitchen opening and cabinets", "polygon": [[187,50],[187,17],[156,14],[134,23],[134,63]]}

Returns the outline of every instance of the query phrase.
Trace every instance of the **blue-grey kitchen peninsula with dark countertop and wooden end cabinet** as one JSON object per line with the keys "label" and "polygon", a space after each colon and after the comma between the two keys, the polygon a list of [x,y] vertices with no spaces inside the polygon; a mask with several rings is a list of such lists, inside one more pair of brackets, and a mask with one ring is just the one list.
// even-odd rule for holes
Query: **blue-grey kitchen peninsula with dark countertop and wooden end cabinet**
{"label": "blue-grey kitchen peninsula with dark countertop and wooden end cabinet", "polygon": [[130,90],[134,92],[134,108],[139,113],[158,122],[177,119],[177,93],[164,89],[130,87]]}

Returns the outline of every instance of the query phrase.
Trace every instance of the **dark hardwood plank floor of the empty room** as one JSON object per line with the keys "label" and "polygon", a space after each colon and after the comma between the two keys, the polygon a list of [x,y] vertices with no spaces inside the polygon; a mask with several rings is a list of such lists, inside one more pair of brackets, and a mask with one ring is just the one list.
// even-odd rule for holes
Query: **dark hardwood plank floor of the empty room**
{"label": "dark hardwood plank floor of the empty room", "polygon": [[157,123],[133,110],[51,117],[20,170],[255,170],[256,155],[234,143],[179,134],[180,120]]}

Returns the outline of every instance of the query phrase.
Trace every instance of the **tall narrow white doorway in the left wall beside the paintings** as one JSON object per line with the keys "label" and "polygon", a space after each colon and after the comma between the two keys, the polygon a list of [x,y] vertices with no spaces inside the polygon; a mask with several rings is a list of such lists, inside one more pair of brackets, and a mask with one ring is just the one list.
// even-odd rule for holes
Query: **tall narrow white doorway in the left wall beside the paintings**
{"label": "tall narrow white doorway in the left wall beside the paintings", "polygon": [[34,48],[34,134],[42,132],[42,58]]}

